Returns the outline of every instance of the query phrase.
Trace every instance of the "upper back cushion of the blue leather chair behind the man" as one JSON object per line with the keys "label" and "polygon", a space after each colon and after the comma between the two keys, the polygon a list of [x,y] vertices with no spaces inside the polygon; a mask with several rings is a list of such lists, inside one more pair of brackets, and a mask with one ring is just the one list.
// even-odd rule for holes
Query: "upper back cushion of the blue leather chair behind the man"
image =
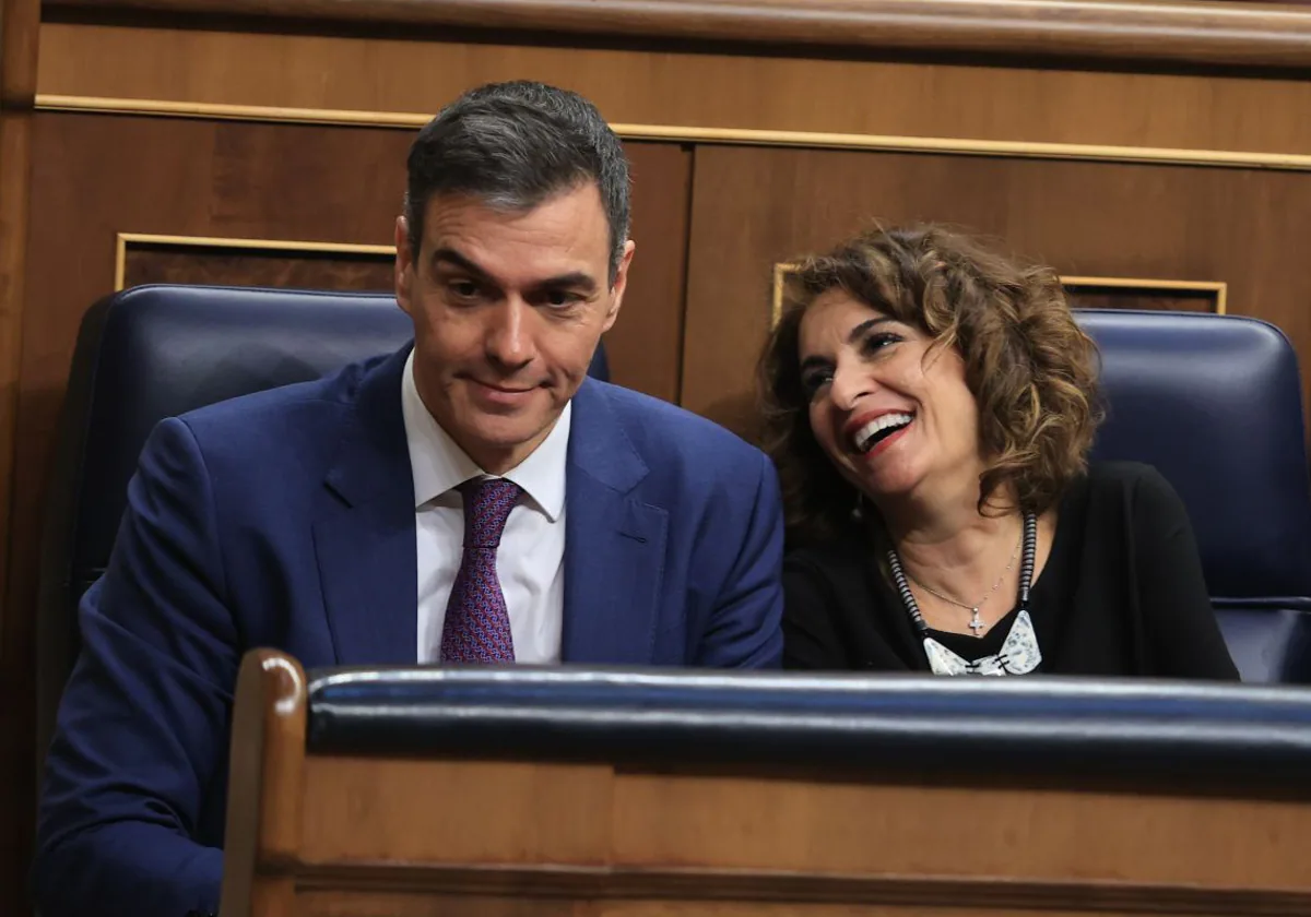
{"label": "upper back cushion of the blue leather chair behind the man", "polygon": [[94,566],[108,559],[127,481],[164,418],[319,379],[412,334],[384,295],[149,286],[102,299],[83,320],[69,380],[67,410],[83,414],[69,421],[85,423],[87,456],[75,550],[90,550]]}

